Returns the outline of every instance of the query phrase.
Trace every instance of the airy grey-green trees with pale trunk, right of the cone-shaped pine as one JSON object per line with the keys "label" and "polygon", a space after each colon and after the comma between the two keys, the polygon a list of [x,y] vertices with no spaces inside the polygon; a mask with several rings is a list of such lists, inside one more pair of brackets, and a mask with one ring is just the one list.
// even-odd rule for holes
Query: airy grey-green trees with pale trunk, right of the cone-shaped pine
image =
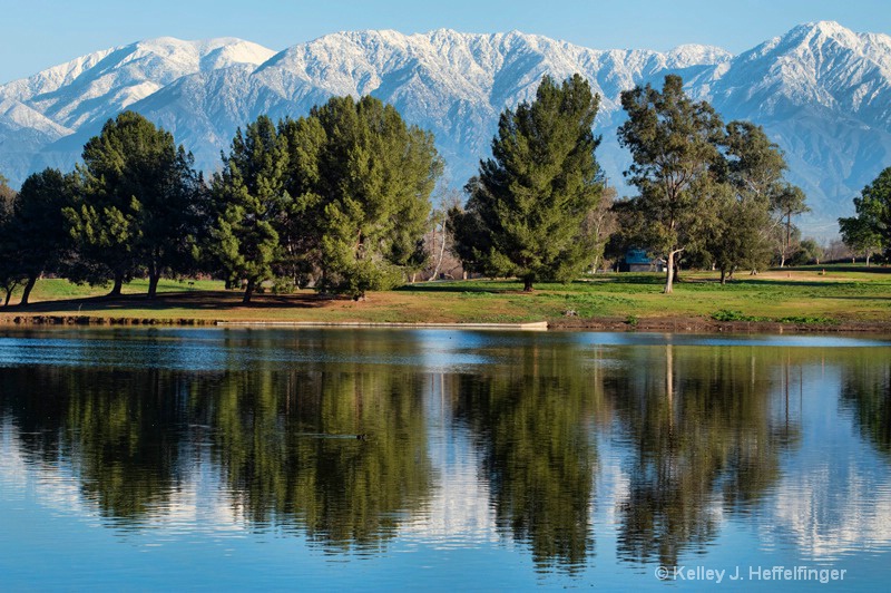
{"label": "airy grey-green trees with pale trunk, right of the cone-shaped pine", "polygon": [[639,194],[616,205],[625,236],[613,240],[611,251],[647,245],[665,254],[665,292],[682,253],[715,265],[723,284],[737,269],[768,264],[779,213],[787,256],[792,216],[807,208],[803,192],[783,183],[783,154],[760,126],[731,121],[725,128],[711,105],[684,94],[677,76],[665,78],[662,93],[647,85],[621,100],[628,121],[619,142],[634,158],[625,174]]}

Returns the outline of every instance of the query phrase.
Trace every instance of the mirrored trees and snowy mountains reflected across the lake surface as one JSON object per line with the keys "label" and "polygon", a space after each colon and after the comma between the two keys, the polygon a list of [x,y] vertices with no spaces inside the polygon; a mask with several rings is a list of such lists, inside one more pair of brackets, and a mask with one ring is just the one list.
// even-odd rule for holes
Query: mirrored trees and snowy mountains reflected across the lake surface
{"label": "mirrored trees and snowy mountains reflected across the lake surface", "polygon": [[889,348],[640,340],[0,337],[0,484],[70,476],[125,531],[188,508],[333,555],[509,542],[569,575],[681,564],[736,524],[753,551],[888,552]]}

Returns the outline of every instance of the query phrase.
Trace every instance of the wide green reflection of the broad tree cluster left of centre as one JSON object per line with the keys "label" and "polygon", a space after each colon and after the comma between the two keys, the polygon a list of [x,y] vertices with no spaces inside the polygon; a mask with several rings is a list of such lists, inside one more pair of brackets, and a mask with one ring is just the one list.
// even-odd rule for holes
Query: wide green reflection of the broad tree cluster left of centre
{"label": "wide green reflection of the broad tree cluster left of centre", "polygon": [[417,375],[227,373],[210,424],[238,511],[332,551],[374,550],[429,496]]}

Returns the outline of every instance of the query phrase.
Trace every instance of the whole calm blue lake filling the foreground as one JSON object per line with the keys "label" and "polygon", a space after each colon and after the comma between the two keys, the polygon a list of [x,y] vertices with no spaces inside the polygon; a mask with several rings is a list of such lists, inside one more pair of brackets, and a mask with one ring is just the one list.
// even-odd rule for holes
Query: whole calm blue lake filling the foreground
{"label": "whole calm blue lake filling the foreground", "polygon": [[891,342],[0,330],[2,590],[718,574],[891,579]]}

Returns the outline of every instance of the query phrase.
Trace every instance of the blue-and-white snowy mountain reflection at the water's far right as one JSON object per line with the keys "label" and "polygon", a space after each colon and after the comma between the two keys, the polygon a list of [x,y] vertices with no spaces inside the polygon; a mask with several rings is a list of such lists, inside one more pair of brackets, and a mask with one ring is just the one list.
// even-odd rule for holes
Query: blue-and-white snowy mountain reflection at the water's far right
{"label": "blue-and-white snowy mountain reflection at the water's far right", "polygon": [[[760,531],[814,561],[891,550],[889,467],[863,441],[851,415],[840,412],[839,367],[797,370],[790,378],[790,414],[801,421],[802,440],[782,461],[783,477],[762,511]],[[784,408],[785,393],[776,396]]]}

